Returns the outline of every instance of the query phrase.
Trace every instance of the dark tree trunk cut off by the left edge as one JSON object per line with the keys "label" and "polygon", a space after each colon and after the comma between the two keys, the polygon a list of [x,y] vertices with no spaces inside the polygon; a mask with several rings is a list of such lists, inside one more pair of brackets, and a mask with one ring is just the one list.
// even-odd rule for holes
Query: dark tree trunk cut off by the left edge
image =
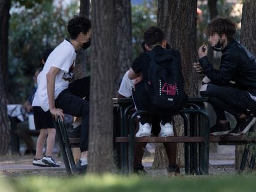
{"label": "dark tree trunk cut off by the left edge", "polygon": [[0,155],[7,153],[9,148],[10,127],[7,117],[6,88],[7,82],[7,58],[8,58],[8,30],[9,30],[9,9],[11,1],[0,0]]}

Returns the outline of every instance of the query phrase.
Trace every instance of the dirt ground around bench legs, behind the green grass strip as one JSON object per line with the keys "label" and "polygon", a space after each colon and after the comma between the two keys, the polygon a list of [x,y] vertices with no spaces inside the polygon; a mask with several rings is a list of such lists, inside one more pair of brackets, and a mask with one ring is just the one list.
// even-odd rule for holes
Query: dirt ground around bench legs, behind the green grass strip
{"label": "dirt ground around bench legs, behind the green grass strip", "polygon": [[[153,162],[153,150],[143,159],[143,165],[148,175],[168,175],[166,169],[151,169]],[[61,164],[61,167],[38,167],[32,165],[33,156],[6,155],[0,157],[0,177],[19,178],[24,175],[45,175],[52,177],[68,177],[64,162],[59,153],[54,154],[54,159]],[[181,175],[184,168],[181,168]],[[234,147],[220,148],[210,153],[209,175],[236,174],[234,169]]]}

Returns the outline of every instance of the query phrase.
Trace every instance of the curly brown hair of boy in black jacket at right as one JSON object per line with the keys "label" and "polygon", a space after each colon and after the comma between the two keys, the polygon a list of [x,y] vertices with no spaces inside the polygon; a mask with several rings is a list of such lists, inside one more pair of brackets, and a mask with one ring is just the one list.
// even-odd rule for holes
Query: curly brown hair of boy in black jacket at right
{"label": "curly brown hair of boy in black jacket at right", "polygon": [[236,33],[236,23],[229,18],[215,17],[208,23],[206,33],[207,36],[214,33],[225,34],[228,40],[231,40]]}

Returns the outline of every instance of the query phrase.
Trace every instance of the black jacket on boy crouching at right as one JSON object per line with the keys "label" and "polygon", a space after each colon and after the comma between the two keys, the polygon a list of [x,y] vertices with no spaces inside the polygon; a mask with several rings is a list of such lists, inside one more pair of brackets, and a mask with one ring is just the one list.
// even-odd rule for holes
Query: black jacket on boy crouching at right
{"label": "black jacket on boy crouching at right", "polygon": [[256,60],[254,55],[234,39],[229,41],[222,53],[220,70],[213,69],[207,56],[199,59],[207,77],[215,85],[223,86],[227,85],[229,81],[234,81],[239,90],[254,92],[256,90]]}

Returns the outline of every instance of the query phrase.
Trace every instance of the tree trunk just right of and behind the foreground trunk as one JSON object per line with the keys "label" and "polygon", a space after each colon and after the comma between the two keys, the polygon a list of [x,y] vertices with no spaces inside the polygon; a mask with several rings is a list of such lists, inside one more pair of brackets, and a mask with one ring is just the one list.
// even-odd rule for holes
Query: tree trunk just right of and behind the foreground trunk
{"label": "tree trunk just right of and behind the foreground trunk", "polygon": [[132,64],[132,23],[130,0],[114,0],[114,93]]}

